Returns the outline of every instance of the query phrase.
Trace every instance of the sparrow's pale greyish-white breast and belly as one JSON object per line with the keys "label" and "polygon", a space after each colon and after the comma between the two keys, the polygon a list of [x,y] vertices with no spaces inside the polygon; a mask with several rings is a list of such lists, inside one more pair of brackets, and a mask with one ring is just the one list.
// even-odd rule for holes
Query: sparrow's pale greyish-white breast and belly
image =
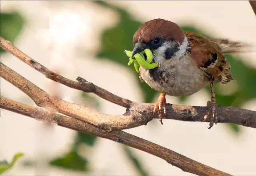
{"label": "sparrow's pale greyish-white breast and belly", "polygon": [[170,96],[188,96],[209,83],[202,70],[198,69],[195,61],[189,57],[166,60],[158,70],[164,71],[167,81],[154,81],[149,70],[142,66],[140,66],[140,76],[151,88]]}

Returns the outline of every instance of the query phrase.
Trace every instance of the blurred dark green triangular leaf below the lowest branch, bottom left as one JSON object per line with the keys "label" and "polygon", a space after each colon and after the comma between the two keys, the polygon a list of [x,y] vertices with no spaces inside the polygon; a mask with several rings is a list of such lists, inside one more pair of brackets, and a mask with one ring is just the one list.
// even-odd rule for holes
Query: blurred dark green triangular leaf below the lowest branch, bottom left
{"label": "blurred dark green triangular leaf below the lowest branch, bottom left", "polygon": [[76,151],[71,151],[63,157],[56,158],[50,164],[64,169],[88,171],[87,160],[79,156]]}

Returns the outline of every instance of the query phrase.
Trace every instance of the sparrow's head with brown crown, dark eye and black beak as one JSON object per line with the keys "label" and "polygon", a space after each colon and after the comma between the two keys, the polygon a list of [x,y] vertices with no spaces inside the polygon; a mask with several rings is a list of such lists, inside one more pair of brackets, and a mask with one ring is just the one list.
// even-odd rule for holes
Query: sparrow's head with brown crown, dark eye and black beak
{"label": "sparrow's head with brown crown, dark eye and black beak", "polygon": [[132,57],[148,48],[154,55],[154,61],[162,64],[176,55],[184,37],[183,31],[175,23],[163,19],[150,20],[134,33]]}

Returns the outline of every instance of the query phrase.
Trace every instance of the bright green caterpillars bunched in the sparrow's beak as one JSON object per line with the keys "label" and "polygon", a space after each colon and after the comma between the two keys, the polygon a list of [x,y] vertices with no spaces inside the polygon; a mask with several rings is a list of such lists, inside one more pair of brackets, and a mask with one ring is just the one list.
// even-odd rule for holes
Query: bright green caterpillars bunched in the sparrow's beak
{"label": "bright green caterpillars bunched in the sparrow's beak", "polygon": [[[134,55],[135,59],[132,59],[132,51],[124,50],[126,55],[129,57],[128,65],[134,64],[134,68],[137,73],[139,73],[139,66],[143,66],[146,69],[153,69],[159,66],[158,63],[151,63],[153,61],[153,54],[150,49],[145,49],[144,51]],[[146,54],[147,59],[145,61],[144,54]]]}

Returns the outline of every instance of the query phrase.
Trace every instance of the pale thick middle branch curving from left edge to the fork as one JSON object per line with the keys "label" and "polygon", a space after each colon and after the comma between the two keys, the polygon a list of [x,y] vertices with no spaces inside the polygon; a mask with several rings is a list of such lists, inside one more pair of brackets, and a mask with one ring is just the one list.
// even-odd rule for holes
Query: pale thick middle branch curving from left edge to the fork
{"label": "pale thick middle branch curving from left edge to the fork", "polygon": [[145,125],[153,118],[152,116],[143,116],[138,113],[137,110],[141,109],[147,111],[147,107],[144,107],[143,104],[137,107],[139,109],[131,110],[127,115],[107,115],[99,113],[86,106],[60,100],[38,88],[35,84],[28,81],[3,63],[1,63],[1,77],[22,90],[22,92],[27,94],[36,105],[80,119],[107,131],[118,131]]}

